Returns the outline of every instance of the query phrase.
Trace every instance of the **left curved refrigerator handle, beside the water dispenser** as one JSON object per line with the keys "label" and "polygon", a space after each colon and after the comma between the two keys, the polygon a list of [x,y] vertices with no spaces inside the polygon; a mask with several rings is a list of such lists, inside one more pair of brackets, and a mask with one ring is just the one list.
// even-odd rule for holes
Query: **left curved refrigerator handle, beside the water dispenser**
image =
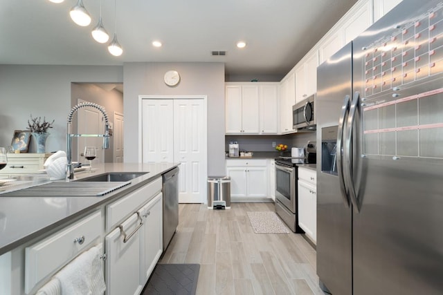
{"label": "left curved refrigerator handle, beside the water dispenser", "polygon": [[350,206],[350,200],[348,198],[348,193],[345,186],[345,177],[343,175],[343,131],[345,130],[346,117],[349,115],[350,111],[350,96],[346,95],[343,105],[341,106],[340,119],[338,120],[338,132],[337,132],[337,143],[336,143],[336,160],[337,160],[337,172],[338,181],[340,182],[341,196],[343,197],[343,203],[345,207]]}

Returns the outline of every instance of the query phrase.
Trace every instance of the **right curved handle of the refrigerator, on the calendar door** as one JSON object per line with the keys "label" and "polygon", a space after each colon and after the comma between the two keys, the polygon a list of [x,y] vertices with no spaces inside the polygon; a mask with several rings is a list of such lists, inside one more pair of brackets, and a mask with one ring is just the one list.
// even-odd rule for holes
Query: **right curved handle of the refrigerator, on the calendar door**
{"label": "right curved handle of the refrigerator, on the calendar door", "polygon": [[354,204],[354,210],[356,213],[360,212],[360,204],[355,193],[355,184],[352,180],[352,131],[354,130],[354,119],[356,109],[359,107],[360,103],[360,93],[356,91],[354,93],[354,99],[352,99],[351,108],[349,115],[347,116],[347,135],[345,136],[345,149],[343,150],[343,155],[345,158],[345,178],[347,184],[347,191],[349,192],[352,204]]}

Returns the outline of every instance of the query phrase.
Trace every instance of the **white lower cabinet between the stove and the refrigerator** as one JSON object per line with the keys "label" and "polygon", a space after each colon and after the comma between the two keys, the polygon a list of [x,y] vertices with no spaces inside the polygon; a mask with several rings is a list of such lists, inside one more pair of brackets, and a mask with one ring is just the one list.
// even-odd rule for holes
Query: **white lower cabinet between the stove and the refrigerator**
{"label": "white lower cabinet between the stove and the refrigerator", "polygon": [[298,225],[317,241],[316,171],[298,167]]}

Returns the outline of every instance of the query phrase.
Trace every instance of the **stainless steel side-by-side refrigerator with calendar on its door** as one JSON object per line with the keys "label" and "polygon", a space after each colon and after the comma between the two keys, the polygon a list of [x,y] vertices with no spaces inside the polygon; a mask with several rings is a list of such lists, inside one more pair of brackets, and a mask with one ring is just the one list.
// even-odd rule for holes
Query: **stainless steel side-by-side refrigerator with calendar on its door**
{"label": "stainless steel side-by-side refrigerator with calendar on its door", "polygon": [[443,3],[402,1],[317,79],[320,286],[443,294]]}

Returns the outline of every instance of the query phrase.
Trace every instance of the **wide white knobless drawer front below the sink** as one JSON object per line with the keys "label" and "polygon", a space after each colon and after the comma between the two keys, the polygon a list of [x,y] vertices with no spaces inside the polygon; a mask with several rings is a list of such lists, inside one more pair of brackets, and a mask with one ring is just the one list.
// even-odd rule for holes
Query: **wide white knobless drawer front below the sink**
{"label": "wide white knobless drawer front below the sink", "polygon": [[131,213],[136,212],[142,204],[156,196],[161,191],[161,188],[161,178],[157,178],[144,187],[129,193],[126,197],[107,205],[106,232],[114,229],[119,222],[122,222]]}

